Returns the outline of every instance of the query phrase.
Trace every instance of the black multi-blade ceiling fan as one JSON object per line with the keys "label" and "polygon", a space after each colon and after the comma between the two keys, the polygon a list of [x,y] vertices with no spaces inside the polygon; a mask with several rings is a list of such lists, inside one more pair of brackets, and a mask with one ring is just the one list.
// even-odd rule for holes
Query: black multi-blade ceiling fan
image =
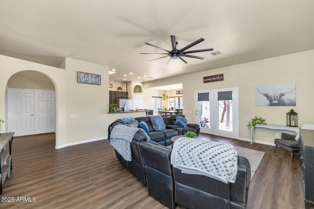
{"label": "black multi-blade ceiling fan", "polygon": [[[190,47],[192,47],[194,45],[197,45],[197,44],[201,43],[202,41],[205,41],[205,39],[203,39],[203,38],[200,38],[200,39],[196,40],[195,42],[193,42],[193,43],[191,43],[191,44],[189,44],[187,46],[184,46],[182,49],[178,50],[177,49],[178,42],[176,41],[176,36],[171,35],[170,38],[171,38],[171,44],[172,44],[172,50],[171,51],[169,51],[167,49],[164,49],[164,48],[161,48],[159,46],[155,46],[155,45],[152,45],[152,44],[149,44],[149,43],[145,43],[145,44],[147,44],[149,46],[154,46],[154,47],[159,48],[159,49],[161,49],[163,51],[166,51],[167,53],[140,53],[140,54],[167,54],[166,56],[159,57],[159,58],[153,59],[153,60],[158,60],[158,59],[161,59],[161,58],[169,56],[170,59],[166,63],[166,65],[168,65],[171,59],[174,59],[174,60],[180,59],[180,60],[182,60],[183,63],[186,64],[187,62],[182,57],[190,57],[190,58],[196,58],[196,59],[203,60],[205,57],[189,55],[189,53],[202,52],[202,51],[212,51],[213,50],[213,48],[204,48],[204,49],[198,49],[198,50],[185,51],[186,49],[188,49],[188,48],[190,48]],[[153,61],[153,60],[150,60],[150,61]]]}

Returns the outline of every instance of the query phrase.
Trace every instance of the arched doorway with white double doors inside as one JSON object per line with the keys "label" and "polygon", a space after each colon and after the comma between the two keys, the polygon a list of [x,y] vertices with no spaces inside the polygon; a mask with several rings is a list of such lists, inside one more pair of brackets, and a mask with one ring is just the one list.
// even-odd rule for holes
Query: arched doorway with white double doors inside
{"label": "arched doorway with white double doors inside", "polygon": [[55,132],[55,86],[42,72],[24,70],[6,85],[6,131],[15,136]]}

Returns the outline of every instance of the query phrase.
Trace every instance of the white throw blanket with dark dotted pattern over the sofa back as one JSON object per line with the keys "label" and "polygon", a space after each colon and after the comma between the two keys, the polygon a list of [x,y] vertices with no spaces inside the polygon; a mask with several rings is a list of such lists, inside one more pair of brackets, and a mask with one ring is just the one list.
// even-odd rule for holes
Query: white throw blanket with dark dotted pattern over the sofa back
{"label": "white throw blanket with dark dotted pattern over the sofa back", "polygon": [[235,183],[237,151],[233,145],[181,137],[173,144],[171,164],[182,173],[204,175],[226,184]]}

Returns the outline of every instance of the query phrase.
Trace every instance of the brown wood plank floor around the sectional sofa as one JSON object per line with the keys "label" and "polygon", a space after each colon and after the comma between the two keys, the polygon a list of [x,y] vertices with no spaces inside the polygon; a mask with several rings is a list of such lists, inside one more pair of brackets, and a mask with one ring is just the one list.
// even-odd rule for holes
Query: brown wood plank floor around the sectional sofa
{"label": "brown wood plank floor around the sectional sofa", "polygon": [[[0,209],[166,208],[122,166],[108,140],[54,149],[54,137],[13,139],[13,170],[4,182]],[[291,163],[290,153],[280,147],[274,153],[274,146],[202,137],[265,152],[250,184],[248,209],[304,208],[297,154]]]}

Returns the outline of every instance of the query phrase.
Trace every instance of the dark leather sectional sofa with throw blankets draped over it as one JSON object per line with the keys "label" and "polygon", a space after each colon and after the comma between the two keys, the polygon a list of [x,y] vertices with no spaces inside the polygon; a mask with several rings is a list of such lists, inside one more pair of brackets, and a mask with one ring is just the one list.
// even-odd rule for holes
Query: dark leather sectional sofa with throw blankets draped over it
{"label": "dark leather sectional sofa with throw blankets draped over it", "polygon": [[[138,117],[148,121],[149,117]],[[146,122],[145,121],[145,122]],[[111,132],[116,124],[112,123]],[[171,136],[178,135],[177,129],[154,133],[148,140],[143,132],[137,132],[131,142],[132,160],[126,161],[117,152],[118,160],[148,188],[150,196],[161,204],[174,209],[177,204],[189,209],[245,209],[250,185],[250,163],[244,157],[238,158],[238,169],[234,184],[225,184],[202,175],[184,174],[170,163]],[[176,135],[175,135],[175,131]],[[182,131],[182,130],[179,130]],[[154,131],[152,131],[153,133]],[[155,138],[156,137],[156,138]]]}

